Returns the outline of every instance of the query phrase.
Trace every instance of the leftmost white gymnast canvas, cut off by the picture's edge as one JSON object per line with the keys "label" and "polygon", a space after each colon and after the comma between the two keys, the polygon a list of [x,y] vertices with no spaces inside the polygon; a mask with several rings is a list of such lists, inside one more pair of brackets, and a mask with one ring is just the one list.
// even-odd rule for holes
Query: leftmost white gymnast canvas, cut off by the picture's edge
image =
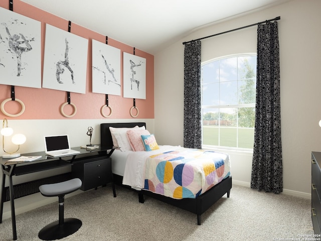
{"label": "leftmost white gymnast canvas, cut off by the picture's edge", "polygon": [[0,84],[41,88],[41,22],[0,8]]}

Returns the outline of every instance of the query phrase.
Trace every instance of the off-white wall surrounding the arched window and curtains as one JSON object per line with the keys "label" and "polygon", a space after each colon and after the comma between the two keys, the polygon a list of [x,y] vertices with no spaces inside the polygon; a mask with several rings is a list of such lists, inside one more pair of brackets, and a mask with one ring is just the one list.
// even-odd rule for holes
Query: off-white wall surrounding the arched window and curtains
{"label": "off-white wall surrounding the arched window and curtains", "polygon": [[[183,145],[185,41],[273,19],[278,21],[281,76],[283,192],[310,197],[311,151],[321,151],[321,1],[293,0],[196,30],[154,56],[155,136]],[[256,52],[257,27],[202,40],[202,61]],[[167,130],[167,131],[165,131]],[[252,154],[230,152],[233,182],[249,186]]]}

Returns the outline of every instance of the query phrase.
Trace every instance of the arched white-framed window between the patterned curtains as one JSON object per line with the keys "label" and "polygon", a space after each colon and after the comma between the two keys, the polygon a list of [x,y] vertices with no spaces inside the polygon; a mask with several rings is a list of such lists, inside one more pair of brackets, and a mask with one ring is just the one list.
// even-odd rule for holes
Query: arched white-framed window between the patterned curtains
{"label": "arched white-framed window between the patterned curtains", "polygon": [[253,149],[256,54],[202,63],[203,146]]}

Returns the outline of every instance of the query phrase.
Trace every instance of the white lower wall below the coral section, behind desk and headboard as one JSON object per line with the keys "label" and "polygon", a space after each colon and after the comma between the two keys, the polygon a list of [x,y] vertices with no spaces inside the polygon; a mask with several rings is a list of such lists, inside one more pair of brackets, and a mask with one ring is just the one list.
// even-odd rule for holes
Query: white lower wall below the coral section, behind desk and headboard
{"label": "white lower wall below the coral section, behind desk and headboard", "polygon": [[[91,126],[94,131],[91,142],[93,144],[100,143],[100,124],[101,123],[127,123],[127,122],[145,122],[146,128],[150,133],[154,133],[154,119],[35,119],[35,120],[14,120],[8,118],[9,127],[14,129],[14,134],[22,133],[27,137],[25,144],[21,145],[19,153],[30,153],[44,151],[44,136],[68,134],[70,138],[70,145],[72,147],[79,147],[89,144],[89,137],[87,136],[88,127]],[[1,127],[2,128],[2,127]],[[2,142],[2,141],[1,141]],[[8,151],[16,151],[17,146],[11,143],[10,138],[5,139],[5,147]],[[4,152],[0,150],[0,156]],[[44,172],[31,173],[22,176],[13,177],[13,183],[19,184],[28,182],[43,177],[54,176],[60,173],[71,171],[70,168],[57,168]],[[2,178],[0,180],[2,185]],[[9,185],[9,179],[6,178],[6,186]],[[68,196],[81,193],[78,190],[75,193],[68,194]],[[66,197],[68,197],[66,196]],[[44,197],[40,193],[32,194],[26,197],[15,199],[16,215],[23,213],[50,202],[58,201],[57,198]],[[10,202],[4,204],[3,219],[11,217]]]}

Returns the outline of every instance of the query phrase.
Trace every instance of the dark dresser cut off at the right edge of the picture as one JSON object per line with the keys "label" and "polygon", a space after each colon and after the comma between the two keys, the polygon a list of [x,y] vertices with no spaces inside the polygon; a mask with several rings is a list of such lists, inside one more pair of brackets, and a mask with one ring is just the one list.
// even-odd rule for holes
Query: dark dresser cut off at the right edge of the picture
{"label": "dark dresser cut off at the right edge of the picture", "polygon": [[311,218],[315,234],[321,233],[321,152],[311,154]]}

